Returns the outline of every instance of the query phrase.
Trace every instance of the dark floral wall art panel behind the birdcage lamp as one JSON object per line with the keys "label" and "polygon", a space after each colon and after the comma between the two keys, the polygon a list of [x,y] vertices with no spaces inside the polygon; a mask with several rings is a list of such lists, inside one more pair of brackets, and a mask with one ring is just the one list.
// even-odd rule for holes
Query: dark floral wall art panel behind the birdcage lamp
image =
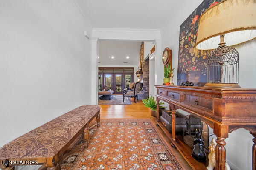
{"label": "dark floral wall art panel behind the birdcage lamp", "polygon": [[177,85],[185,81],[193,82],[195,86],[203,86],[206,83],[207,55],[210,51],[198,51],[196,53],[194,51],[198,34],[198,21],[205,10],[221,1],[204,0],[180,25]]}

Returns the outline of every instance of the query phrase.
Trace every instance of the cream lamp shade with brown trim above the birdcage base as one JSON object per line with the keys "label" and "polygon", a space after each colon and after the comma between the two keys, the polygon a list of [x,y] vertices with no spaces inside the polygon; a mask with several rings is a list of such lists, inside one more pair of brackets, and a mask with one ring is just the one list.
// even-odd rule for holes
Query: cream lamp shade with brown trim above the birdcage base
{"label": "cream lamp shade with brown trim above the birdcage base", "polygon": [[256,0],[223,0],[207,9],[199,19],[196,48],[218,47],[220,35],[232,46],[256,37]]}

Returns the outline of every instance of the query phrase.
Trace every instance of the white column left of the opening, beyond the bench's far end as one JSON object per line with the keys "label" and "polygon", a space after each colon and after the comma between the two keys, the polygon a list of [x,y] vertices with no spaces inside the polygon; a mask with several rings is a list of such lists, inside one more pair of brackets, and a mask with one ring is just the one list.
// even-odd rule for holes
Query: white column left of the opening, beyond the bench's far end
{"label": "white column left of the opening, beyond the bench's far end", "polygon": [[99,38],[92,38],[92,63],[91,63],[91,104],[98,105],[98,42]]}

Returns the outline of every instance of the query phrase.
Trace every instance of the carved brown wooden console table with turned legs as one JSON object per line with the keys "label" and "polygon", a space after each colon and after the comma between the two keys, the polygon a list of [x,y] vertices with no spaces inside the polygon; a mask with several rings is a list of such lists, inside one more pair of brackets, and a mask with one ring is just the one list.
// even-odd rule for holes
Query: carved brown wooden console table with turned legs
{"label": "carved brown wooden console table with turned legs", "polygon": [[[188,86],[155,85],[157,88],[157,125],[159,125],[194,170],[206,170],[208,163],[192,158],[192,149],[175,136],[175,110],[182,109],[201,118],[217,137],[216,170],[225,170],[228,133],[244,128],[253,135],[253,170],[256,170],[256,89],[205,88]],[[172,133],[159,119],[159,101],[169,103],[172,109]]]}

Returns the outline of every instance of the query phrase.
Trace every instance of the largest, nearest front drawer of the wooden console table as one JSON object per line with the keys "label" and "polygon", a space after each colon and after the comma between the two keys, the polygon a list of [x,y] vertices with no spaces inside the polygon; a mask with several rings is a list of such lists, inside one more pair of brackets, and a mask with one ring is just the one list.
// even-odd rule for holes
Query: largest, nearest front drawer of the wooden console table
{"label": "largest, nearest front drawer of the wooden console table", "polygon": [[206,108],[210,111],[212,111],[212,99],[208,99],[206,97],[201,97],[201,96],[193,96],[186,94],[185,95],[185,103],[190,104],[190,105],[195,105],[200,106],[200,108]]}

